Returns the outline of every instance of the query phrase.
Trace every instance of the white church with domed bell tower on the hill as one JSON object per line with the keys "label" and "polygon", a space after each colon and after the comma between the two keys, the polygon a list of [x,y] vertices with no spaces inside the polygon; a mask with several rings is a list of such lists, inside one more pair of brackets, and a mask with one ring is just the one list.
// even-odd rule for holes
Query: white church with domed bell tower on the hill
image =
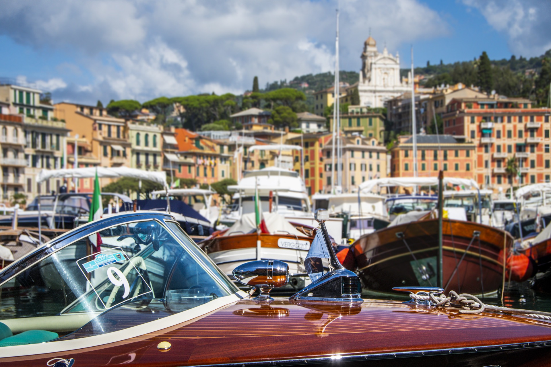
{"label": "white church with domed bell tower on the hill", "polygon": [[[408,78],[410,80],[411,78]],[[361,53],[358,93],[360,105],[385,107],[385,102],[411,90],[411,85],[400,78],[400,58],[383,49],[377,50],[377,42],[369,36]]]}

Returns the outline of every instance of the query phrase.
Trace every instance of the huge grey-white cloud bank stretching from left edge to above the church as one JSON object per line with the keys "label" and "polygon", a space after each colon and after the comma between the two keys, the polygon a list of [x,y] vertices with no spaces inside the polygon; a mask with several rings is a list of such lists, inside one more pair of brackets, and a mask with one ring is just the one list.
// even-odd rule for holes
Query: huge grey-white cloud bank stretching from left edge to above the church
{"label": "huge grey-white cloud bank stretching from left edge to above the church", "polygon": [[[66,87],[45,84],[56,88],[56,100],[145,101],[240,93],[255,75],[262,86],[332,70],[335,6],[308,0],[21,0],[4,3],[0,34],[41,52],[66,52],[76,60],[73,70],[91,75],[91,83],[79,85],[71,81],[78,73],[58,70],[65,81],[54,79]],[[448,30],[419,0],[341,0],[342,69],[360,68],[369,28],[380,48],[386,43],[393,53],[404,42]]]}

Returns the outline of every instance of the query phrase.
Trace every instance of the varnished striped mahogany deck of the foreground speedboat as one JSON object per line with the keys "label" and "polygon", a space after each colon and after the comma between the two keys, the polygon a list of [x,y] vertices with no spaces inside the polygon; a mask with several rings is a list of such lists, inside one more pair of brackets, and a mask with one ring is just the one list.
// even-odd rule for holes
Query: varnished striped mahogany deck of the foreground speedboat
{"label": "varnished striped mahogany deck of the foreground speedboat", "polygon": [[[158,343],[170,350],[160,352]],[[511,352],[476,352],[474,348],[551,341],[551,324],[518,316],[460,315],[456,311],[414,309],[397,302],[365,302],[360,306],[320,302],[295,304],[277,298],[271,305],[241,300],[195,320],[127,341],[62,353],[0,358],[0,365],[45,366],[52,358],[74,358],[75,367],[126,364],[137,366],[213,366],[269,362],[315,364],[311,358],[360,355],[369,365],[504,366],[547,365],[548,347]],[[9,348],[9,347],[4,347]],[[456,353],[456,348],[470,348]],[[495,347],[494,349],[498,349]],[[430,350],[440,349],[430,356]],[[528,350],[530,349],[530,350]],[[401,359],[400,353],[425,351],[427,357]],[[449,352],[450,351],[450,352]],[[0,353],[2,349],[0,349]],[[32,346],[29,346],[32,353]],[[392,359],[393,353],[398,353]],[[447,355],[452,353],[452,355]],[[1,355],[1,354],[0,354]],[[419,353],[420,356],[420,353]],[[473,364],[473,361],[476,363]],[[323,362],[325,363],[325,361]],[[344,360],[343,360],[344,363]],[[347,365],[359,365],[350,361]],[[365,362],[361,362],[365,365]]]}

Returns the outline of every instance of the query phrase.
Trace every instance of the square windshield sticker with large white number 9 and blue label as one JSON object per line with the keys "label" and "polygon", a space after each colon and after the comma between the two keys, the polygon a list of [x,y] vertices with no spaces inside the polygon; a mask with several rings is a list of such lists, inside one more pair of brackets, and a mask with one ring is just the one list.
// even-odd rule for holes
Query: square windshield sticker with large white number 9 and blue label
{"label": "square windshield sticker with large white number 9 and blue label", "polygon": [[127,256],[120,247],[84,256],[77,260],[77,265],[98,295],[95,300],[98,309],[100,305],[110,309],[152,293],[145,260],[141,256]]}

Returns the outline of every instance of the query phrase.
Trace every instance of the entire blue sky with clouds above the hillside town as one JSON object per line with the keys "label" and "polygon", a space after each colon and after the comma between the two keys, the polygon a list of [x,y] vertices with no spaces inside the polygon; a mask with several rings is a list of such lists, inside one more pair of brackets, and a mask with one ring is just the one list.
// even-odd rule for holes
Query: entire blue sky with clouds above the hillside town
{"label": "entire blue sky with clouds above the hillside town", "polygon": [[[200,92],[240,94],[333,69],[337,0],[0,0],[0,77],[94,104]],[[340,0],[341,69],[364,40],[403,67],[539,56],[549,0]]]}

